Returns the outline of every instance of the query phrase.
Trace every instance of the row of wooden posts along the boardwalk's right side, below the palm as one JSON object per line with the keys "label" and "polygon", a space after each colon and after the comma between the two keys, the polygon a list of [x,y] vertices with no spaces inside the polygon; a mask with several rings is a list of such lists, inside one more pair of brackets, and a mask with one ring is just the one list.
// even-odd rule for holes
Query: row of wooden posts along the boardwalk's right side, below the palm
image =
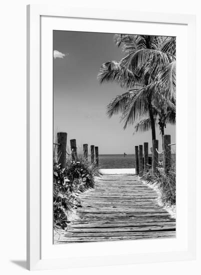
{"label": "row of wooden posts along the boardwalk's right side, below the palm", "polygon": [[[163,135],[163,167],[165,173],[168,173],[171,166],[171,136],[169,134]],[[158,168],[158,140],[152,140],[152,156],[151,162],[148,156],[148,142],[143,145],[135,146],[135,172],[142,176],[150,166],[153,174],[157,173]]]}

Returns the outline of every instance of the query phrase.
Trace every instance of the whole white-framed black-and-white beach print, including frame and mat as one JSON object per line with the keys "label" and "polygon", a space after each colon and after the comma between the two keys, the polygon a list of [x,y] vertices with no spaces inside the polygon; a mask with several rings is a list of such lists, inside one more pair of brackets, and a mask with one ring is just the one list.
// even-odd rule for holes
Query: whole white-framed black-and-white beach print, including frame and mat
{"label": "whole white-framed black-and-white beach print, including frame and mat", "polygon": [[195,258],[195,16],[27,6],[27,268]]}

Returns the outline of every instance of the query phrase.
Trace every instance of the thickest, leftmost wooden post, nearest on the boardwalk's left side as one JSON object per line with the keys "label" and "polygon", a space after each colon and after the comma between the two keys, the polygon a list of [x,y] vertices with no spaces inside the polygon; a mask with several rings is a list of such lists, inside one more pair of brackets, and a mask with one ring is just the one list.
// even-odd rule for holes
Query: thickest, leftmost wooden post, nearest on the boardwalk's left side
{"label": "thickest, leftmost wooden post, nearest on the boardwalk's left side", "polygon": [[67,133],[66,132],[57,132],[57,157],[58,163],[60,163],[60,167],[65,167],[66,161],[66,141],[67,141]]}

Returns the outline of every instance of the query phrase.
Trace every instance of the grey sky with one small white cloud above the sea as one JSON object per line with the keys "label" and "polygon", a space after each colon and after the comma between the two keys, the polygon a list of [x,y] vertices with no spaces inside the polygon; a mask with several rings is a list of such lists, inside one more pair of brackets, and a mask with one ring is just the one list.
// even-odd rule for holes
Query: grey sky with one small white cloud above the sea
{"label": "grey sky with one small white cloud above the sea", "polygon": [[[149,142],[151,131],[133,134],[134,125],[124,130],[120,115],[108,118],[106,106],[126,90],[115,83],[99,84],[100,65],[123,57],[113,42],[112,33],[53,31],[53,130],[67,132],[69,140],[99,147],[99,154],[134,153],[134,146]],[[175,142],[175,126],[167,125],[166,134]],[[161,136],[156,127],[161,150]],[[149,151],[150,152],[150,151]]]}

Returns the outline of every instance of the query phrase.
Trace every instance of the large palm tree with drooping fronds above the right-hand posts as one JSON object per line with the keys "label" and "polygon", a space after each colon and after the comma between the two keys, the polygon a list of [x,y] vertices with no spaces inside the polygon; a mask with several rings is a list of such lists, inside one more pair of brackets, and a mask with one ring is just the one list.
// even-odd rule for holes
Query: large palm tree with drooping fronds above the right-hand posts
{"label": "large palm tree with drooping fronds above the right-hand posts", "polygon": [[[134,123],[136,118],[148,115],[152,139],[155,139],[152,101],[158,95],[158,83],[160,83],[159,80],[156,81],[156,75],[158,77],[160,75],[163,79],[161,69],[174,62],[175,39],[163,36],[115,34],[114,41],[117,46],[122,45],[122,51],[126,55],[120,62],[103,63],[98,73],[98,80],[100,83],[115,82],[129,90],[111,100],[107,106],[107,114],[112,116],[121,112],[124,128],[127,124]],[[167,71],[166,76],[169,72]]]}

